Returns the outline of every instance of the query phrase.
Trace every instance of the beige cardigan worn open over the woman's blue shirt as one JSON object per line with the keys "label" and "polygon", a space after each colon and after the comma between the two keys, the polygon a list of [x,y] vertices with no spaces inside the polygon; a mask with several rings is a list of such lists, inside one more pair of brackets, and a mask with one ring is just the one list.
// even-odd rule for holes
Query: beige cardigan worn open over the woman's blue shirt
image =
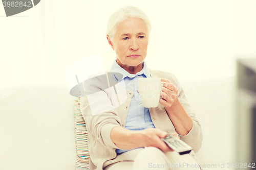
{"label": "beige cardigan worn open over the woman's blue shirt", "polygon": [[[165,71],[149,70],[153,78],[168,79],[178,87],[179,100],[193,120],[193,128],[187,135],[180,136],[180,138],[193,148],[194,152],[191,151],[189,154],[198,161],[195,153],[199,151],[202,145],[202,129],[195,113],[190,109],[183,88],[173,74]],[[81,96],[80,109],[88,131],[89,170],[102,169],[103,163],[114,159],[117,156],[115,150],[120,149],[111,140],[110,132],[116,126],[125,127],[126,115],[134,92],[124,90],[118,85],[116,85],[116,90],[117,95],[112,87],[105,90],[102,89],[98,93]],[[120,106],[117,99],[120,101]],[[95,112],[95,109],[96,112],[101,113],[98,115],[93,114],[94,116],[92,116],[92,112]],[[174,125],[162,105],[159,104],[156,108],[149,108],[149,111],[156,128],[168,133],[175,132]]]}

